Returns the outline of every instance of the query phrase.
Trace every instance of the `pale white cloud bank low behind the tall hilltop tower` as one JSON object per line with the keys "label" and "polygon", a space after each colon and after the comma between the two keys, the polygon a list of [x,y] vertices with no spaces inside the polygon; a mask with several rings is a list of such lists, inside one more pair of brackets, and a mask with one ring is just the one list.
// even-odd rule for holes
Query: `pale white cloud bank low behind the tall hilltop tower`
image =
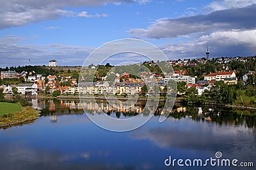
{"label": "pale white cloud bank low behind the tall hilltop tower", "polygon": [[170,59],[205,56],[209,44],[210,56],[254,56],[256,53],[256,29],[246,31],[214,31],[193,40],[167,43],[159,48]]}

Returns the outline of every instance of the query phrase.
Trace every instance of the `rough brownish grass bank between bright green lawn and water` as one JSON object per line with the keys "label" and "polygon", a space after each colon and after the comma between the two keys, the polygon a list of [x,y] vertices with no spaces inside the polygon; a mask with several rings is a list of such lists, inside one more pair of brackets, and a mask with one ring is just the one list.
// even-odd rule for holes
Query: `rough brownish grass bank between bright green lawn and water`
{"label": "rough brownish grass bank between bright green lawn and water", "polygon": [[32,123],[38,118],[38,111],[32,107],[22,107],[22,111],[4,114],[0,116],[0,128],[8,128],[15,125]]}

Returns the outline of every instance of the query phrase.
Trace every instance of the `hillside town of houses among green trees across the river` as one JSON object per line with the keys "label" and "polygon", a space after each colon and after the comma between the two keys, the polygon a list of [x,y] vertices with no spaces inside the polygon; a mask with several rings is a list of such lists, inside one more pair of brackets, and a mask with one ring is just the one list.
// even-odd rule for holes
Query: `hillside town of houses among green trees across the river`
{"label": "hillside town of houses among green trees across the river", "polygon": [[[207,52],[206,52],[207,54]],[[56,60],[49,61],[49,66],[24,66],[1,69],[1,86],[5,95],[12,95],[13,89],[21,95],[168,95],[172,87],[166,88],[169,81],[177,82],[177,94],[186,95],[186,89],[193,89],[195,95],[201,96],[211,91],[216,82],[226,85],[239,84],[245,89],[249,86],[255,94],[255,62],[254,57],[212,58],[209,54],[200,59],[178,59],[161,61],[173,67],[174,72],[164,75],[157,69],[159,61],[145,61],[150,72],[141,72],[140,77],[129,73],[113,73],[115,81],[106,81],[106,72],[113,66],[88,66],[88,69],[101,69],[93,82],[78,83],[79,72],[69,66],[57,66]],[[39,69],[40,68],[40,69]],[[57,69],[58,68],[58,69]],[[60,70],[61,68],[61,70]],[[70,69],[71,68],[71,69]],[[22,70],[24,69],[24,70]],[[182,82],[182,83],[181,83]],[[147,84],[148,86],[145,86]],[[156,87],[157,86],[157,87]],[[180,87],[182,86],[182,87]],[[149,89],[148,89],[149,88]]]}

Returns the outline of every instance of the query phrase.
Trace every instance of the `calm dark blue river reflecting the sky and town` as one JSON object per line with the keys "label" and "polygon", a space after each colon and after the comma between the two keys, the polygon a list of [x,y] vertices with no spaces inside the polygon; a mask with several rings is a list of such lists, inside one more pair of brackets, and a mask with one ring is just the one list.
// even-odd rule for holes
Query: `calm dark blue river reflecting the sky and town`
{"label": "calm dark blue river reflecting the sky and town", "polygon": [[[256,166],[256,119],[246,116],[250,111],[175,106],[163,123],[156,114],[136,130],[109,132],[93,124],[76,100],[33,104],[42,111],[38,120],[0,130],[0,169],[184,169],[166,167],[164,160],[169,156],[204,160],[215,158],[216,151],[223,158],[254,164],[241,169]],[[138,114],[143,107],[111,111],[105,102],[99,104],[117,118]],[[88,112],[98,114],[90,101]]]}

